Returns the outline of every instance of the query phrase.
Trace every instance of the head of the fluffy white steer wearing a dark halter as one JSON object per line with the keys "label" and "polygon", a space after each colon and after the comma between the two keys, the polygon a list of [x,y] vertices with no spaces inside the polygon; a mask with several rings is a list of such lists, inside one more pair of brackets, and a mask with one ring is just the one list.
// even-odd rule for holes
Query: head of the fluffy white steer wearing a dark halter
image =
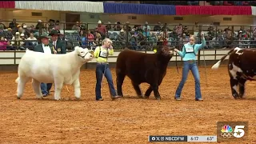
{"label": "head of the fluffy white steer wearing a dark halter", "polygon": [[82,58],[84,62],[89,62],[94,58],[94,50],[88,50],[79,46],[74,47],[74,51],[78,54],[78,57]]}

